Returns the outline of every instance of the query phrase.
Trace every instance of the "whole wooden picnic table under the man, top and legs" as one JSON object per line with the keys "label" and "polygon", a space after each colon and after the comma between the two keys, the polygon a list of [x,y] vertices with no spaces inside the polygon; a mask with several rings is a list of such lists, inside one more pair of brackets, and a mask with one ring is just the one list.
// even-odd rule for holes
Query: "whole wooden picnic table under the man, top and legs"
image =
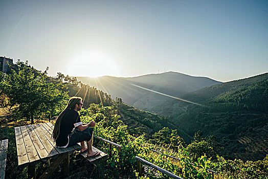
{"label": "whole wooden picnic table under the man, top and legs", "polygon": [[[18,166],[28,166],[28,178],[35,178],[35,165],[46,161],[49,167],[40,178],[48,178],[62,162],[63,174],[69,175],[70,153],[82,147],[78,144],[66,148],[56,147],[51,138],[53,128],[51,123],[15,127]],[[52,164],[50,159],[55,159]]]}

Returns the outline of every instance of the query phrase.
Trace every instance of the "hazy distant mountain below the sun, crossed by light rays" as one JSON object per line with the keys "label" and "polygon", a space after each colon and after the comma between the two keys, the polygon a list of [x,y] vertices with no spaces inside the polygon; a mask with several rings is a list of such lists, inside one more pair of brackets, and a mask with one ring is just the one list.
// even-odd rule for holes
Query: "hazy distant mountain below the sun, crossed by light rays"
{"label": "hazy distant mountain below the sun, crossed by light rays", "polygon": [[220,83],[210,78],[193,77],[176,72],[131,78],[103,76],[98,78],[77,77],[77,79],[84,84],[97,87],[111,95],[113,99],[121,98],[124,103],[146,111],[152,111],[153,106],[172,98],[146,91],[144,88],[178,97]]}

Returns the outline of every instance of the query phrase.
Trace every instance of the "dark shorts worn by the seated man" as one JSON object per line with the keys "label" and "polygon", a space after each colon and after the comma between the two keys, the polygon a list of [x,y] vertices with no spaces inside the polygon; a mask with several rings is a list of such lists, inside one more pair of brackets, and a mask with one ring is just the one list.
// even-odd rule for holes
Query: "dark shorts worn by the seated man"
{"label": "dark shorts worn by the seated man", "polygon": [[78,142],[90,141],[93,134],[93,128],[88,127],[87,129],[80,131],[77,127],[69,135],[69,146],[75,145]]}

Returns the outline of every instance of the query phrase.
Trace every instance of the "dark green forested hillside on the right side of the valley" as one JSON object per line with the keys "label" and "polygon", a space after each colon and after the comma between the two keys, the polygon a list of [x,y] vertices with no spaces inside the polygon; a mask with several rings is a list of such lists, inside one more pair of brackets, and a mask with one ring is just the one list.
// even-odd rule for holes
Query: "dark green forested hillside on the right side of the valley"
{"label": "dark green forested hillside on the right side of the valley", "polygon": [[157,106],[190,136],[214,135],[231,159],[260,160],[268,152],[268,74],[221,83]]}

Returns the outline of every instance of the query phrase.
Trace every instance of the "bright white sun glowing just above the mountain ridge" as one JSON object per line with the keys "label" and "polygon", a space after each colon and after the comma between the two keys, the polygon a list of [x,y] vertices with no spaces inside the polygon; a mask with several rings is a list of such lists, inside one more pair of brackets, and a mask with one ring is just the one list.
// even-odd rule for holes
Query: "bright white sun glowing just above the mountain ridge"
{"label": "bright white sun glowing just above the mountain ridge", "polygon": [[118,76],[118,68],[115,60],[110,56],[99,52],[86,52],[78,55],[69,64],[69,76]]}

